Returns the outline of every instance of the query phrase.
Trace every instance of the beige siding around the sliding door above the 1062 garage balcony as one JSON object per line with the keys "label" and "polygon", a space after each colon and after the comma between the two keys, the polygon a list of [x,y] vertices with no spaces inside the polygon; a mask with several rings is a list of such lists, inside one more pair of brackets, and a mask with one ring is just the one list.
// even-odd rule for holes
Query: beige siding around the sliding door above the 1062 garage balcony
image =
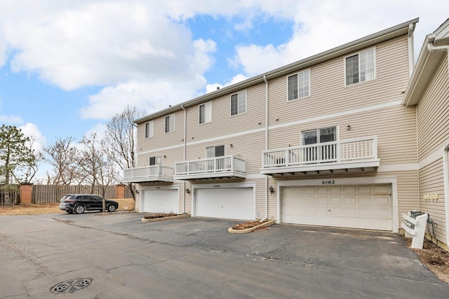
{"label": "beige siding around the sliding door above the 1062 garage balcony", "polygon": [[[415,108],[402,105],[269,130],[269,148],[299,146],[302,130],[340,125],[340,140],[377,134],[381,165],[416,163]],[[351,130],[347,130],[351,125]]]}

